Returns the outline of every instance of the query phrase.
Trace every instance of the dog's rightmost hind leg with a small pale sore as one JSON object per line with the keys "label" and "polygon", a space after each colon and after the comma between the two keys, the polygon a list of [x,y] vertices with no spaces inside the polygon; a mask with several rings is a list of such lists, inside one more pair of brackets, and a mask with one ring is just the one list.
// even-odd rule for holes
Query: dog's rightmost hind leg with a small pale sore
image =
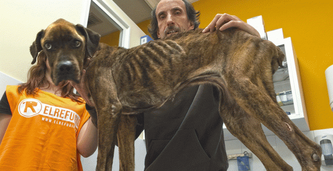
{"label": "dog's rightmost hind leg with a small pale sore", "polygon": [[237,104],[282,139],[294,153],[302,170],[320,170],[320,146],[306,137],[288,115],[247,77],[230,79],[228,89]]}

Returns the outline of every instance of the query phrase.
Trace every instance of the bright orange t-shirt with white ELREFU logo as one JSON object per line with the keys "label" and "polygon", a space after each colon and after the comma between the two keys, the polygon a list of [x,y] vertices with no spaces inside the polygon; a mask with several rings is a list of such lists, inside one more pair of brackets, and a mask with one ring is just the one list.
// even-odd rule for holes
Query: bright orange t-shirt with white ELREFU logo
{"label": "bright orange t-shirt with white ELREFU logo", "polygon": [[76,141],[89,118],[85,104],[17,88],[6,89],[12,119],[0,145],[0,170],[82,170]]}

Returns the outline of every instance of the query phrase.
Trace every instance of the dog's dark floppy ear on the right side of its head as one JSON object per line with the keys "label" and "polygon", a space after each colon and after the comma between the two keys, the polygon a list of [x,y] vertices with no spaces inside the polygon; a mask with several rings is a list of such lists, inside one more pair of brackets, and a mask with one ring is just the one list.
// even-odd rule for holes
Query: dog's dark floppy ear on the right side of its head
{"label": "dog's dark floppy ear on the right side of its head", "polygon": [[76,28],[86,38],[86,52],[90,57],[92,57],[97,51],[100,35],[90,29],[84,28],[80,24],[77,24]]}

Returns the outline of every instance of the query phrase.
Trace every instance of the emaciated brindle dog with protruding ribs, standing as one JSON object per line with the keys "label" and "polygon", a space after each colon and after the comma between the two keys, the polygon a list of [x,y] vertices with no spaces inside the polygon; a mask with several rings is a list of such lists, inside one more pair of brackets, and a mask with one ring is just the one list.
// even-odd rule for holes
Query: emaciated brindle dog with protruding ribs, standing
{"label": "emaciated brindle dog with protruding ribs, standing", "polygon": [[272,74],[284,59],[273,43],[238,29],[209,34],[200,29],[131,49],[99,43],[99,35],[65,20],[37,34],[31,46],[48,57],[52,80],[85,81],[98,113],[96,170],[111,170],[118,138],[121,170],[134,170],[135,115],[193,84],[220,90],[220,116],[267,170],[293,170],[268,143],[261,123],[295,154],[302,170],[320,170],[320,146],[307,138],[276,102]]}

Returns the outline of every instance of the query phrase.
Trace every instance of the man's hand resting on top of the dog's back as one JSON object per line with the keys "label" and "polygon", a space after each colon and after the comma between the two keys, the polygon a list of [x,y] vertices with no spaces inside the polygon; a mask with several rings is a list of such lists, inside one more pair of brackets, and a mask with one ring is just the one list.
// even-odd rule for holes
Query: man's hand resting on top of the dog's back
{"label": "man's hand resting on top of the dog's back", "polygon": [[260,38],[260,34],[256,29],[254,29],[249,24],[243,22],[238,17],[229,14],[216,14],[213,21],[209,23],[209,25],[202,31],[202,33],[213,32],[216,29],[219,29],[219,31],[223,31],[231,27],[236,27],[253,36],[257,36]]}

